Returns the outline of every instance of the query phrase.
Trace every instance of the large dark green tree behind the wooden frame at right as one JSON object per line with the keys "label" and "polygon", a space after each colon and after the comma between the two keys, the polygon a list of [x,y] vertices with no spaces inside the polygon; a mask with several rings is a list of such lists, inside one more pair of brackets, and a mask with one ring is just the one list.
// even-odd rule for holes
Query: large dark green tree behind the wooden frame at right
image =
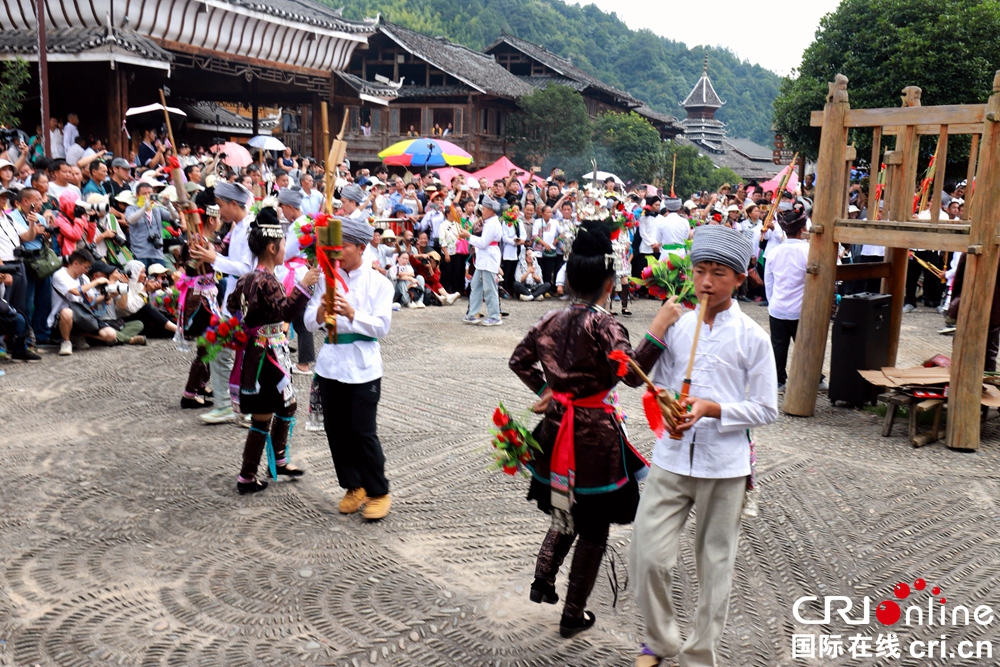
{"label": "large dark green tree behind the wooden frame at right", "polygon": [[[815,158],[820,133],[809,114],[823,108],[837,73],[849,79],[855,109],[898,107],[910,85],[923,90],[924,106],[981,103],[1000,69],[997,35],[1000,0],[844,0],[820,21],[798,71],[782,81],[774,125],[793,149]],[[852,132],[862,159],[871,136]],[[966,156],[961,142],[949,142],[950,164]]]}

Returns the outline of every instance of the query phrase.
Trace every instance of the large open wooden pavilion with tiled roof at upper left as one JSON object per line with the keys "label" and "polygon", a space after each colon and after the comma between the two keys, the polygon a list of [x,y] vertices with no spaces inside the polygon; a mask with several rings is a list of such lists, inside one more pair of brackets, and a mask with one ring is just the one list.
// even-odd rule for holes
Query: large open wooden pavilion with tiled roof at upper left
{"label": "large open wooden pavilion with tiled roof at upper left", "polygon": [[[4,0],[0,59],[36,61],[35,0]],[[84,134],[108,139],[116,154],[130,144],[124,112],[159,101],[226,102],[251,110],[281,107],[295,128],[295,147],[322,152],[320,103],[332,101],[333,73],[364,48],[374,19],[348,21],[314,0],[46,0],[52,115],[80,117]],[[29,90],[38,90],[34,78]],[[38,97],[30,96],[22,125],[34,129]],[[138,140],[132,130],[131,147]],[[184,136],[183,126],[177,138]]]}

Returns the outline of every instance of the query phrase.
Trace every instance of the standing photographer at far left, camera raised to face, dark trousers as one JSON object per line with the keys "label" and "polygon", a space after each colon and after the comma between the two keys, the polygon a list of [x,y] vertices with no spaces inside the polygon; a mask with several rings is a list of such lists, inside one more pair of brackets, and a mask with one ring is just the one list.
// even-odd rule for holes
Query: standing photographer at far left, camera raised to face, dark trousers
{"label": "standing photographer at far left, camera raised to face, dark trousers", "polygon": [[58,255],[49,245],[50,234],[41,211],[41,193],[25,188],[18,197],[17,208],[10,214],[21,239],[21,247],[15,249],[15,254],[20,255],[27,269],[22,312],[38,345],[49,342],[49,326],[45,320],[52,310],[52,273],[59,269],[53,261]]}

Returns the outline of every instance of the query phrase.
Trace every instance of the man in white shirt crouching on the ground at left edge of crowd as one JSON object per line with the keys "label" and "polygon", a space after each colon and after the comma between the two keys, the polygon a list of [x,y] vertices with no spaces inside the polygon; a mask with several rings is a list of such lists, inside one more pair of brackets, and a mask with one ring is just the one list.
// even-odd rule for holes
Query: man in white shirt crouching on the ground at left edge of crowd
{"label": "man in white shirt crouching on the ground at left edge of crowd", "polygon": [[49,313],[49,328],[59,326],[59,355],[73,354],[71,337],[75,334],[114,343],[118,332],[113,327],[102,325],[86,303],[86,295],[99,285],[106,285],[107,278],[90,280],[87,272],[94,262],[89,250],[74,250],[70,253],[66,266],[52,276],[52,312]]}

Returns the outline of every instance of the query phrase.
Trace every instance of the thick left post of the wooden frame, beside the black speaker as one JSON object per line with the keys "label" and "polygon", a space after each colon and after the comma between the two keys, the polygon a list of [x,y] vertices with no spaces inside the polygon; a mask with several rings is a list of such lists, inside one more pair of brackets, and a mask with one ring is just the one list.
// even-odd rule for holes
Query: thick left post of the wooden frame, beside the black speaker
{"label": "thick left post of the wooden frame, beside the black speaker", "polygon": [[[833,221],[843,217],[846,188],[844,162],[847,159],[847,128],[844,117],[850,109],[847,77],[838,74],[830,84],[823,108],[823,130],[816,161],[817,188],[813,204],[813,232],[809,239],[809,260],[799,333],[795,340],[792,368],[782,409],[791,415],[812,416],[816,391],[823,373],[823,356],[830,330],[830,304],[837,272],[837,243]],[[819,226],[819,227],[817,227]]]}

